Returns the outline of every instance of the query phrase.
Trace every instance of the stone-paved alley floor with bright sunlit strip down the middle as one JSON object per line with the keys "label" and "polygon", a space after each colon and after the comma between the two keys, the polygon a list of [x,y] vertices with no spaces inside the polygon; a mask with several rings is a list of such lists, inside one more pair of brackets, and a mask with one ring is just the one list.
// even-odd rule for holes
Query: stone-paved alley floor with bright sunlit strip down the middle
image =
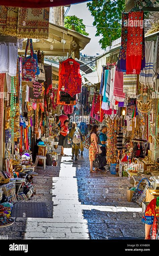
{"label": "stone-paved alley floor with bright sunlit strip down the middle", "polygon": [[[59,152],[59,149],[57,150]],[[34,178],[37,194],[31,202],[45,202],[48,219],[15,218],[1,229],[8,239],[144,238],[142,209],[126,200],[126,177],[110,172],[90,173],[88,151],[78,162],[58,156],[58,166],[39,167]],[[28,201],[28,204],[30,203]],[[22,202],[21,202],[22,203]]]}

